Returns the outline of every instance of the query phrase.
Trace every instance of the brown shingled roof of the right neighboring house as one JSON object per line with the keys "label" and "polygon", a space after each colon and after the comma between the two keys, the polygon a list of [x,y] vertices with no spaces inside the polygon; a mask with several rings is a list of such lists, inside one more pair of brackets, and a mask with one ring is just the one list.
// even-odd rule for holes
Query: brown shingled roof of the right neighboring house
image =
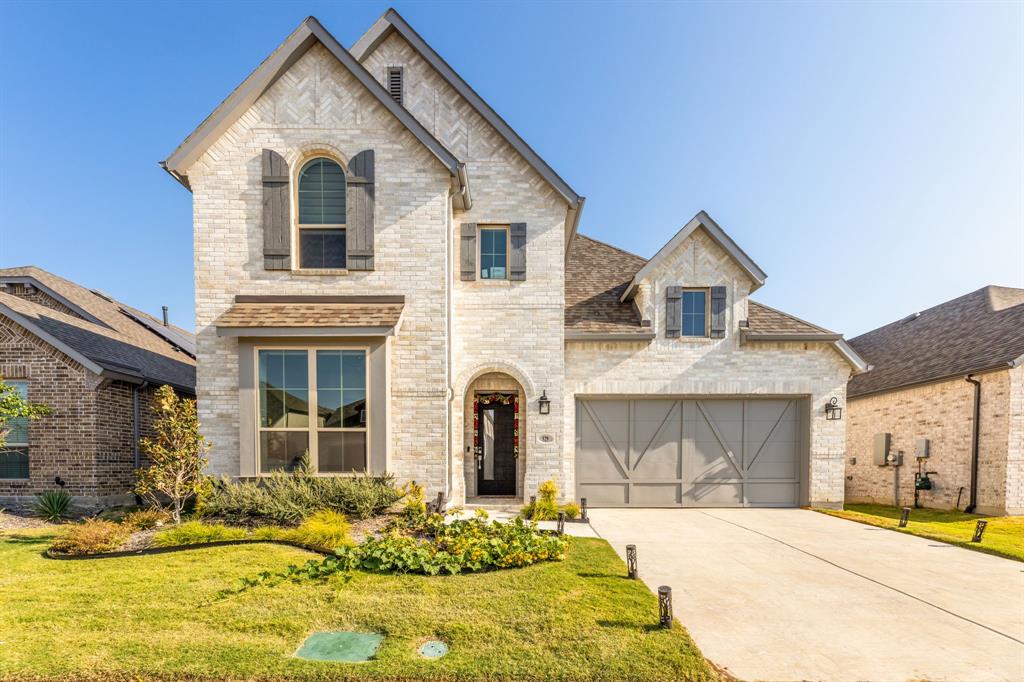
{"label": "brown shingled roof of the right neighboring house", "polygon": [[851,397],[1024,363],[1024,289],[989,286],[850,340],[873,369]]}

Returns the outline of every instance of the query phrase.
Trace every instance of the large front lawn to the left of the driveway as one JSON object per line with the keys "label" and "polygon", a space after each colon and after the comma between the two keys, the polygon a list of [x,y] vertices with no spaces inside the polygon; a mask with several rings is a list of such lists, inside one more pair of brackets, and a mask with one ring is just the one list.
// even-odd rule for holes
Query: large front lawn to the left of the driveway
{"label": "large front lawn to the left of the driveway", "polygon": [[[563,562],[427,578],[352,580],[217,595],[242,577],[315,555],[275,545],[46,559],[52,530],[0,536],[0,678],[709,680],[680,627],[604,541],[574,539]],[[377,659],[295,658],[312,632],[387,635]],[[451,653],[421,659],[440,638]]]}

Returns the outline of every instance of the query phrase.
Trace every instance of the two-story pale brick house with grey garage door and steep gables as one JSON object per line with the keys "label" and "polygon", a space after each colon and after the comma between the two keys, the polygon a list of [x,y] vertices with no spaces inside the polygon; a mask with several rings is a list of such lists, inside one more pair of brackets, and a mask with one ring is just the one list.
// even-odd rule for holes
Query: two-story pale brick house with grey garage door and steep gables
{"label": "two-story pale brick house with grey garage door and steep gables", "polygon": [[824,404],[856,353],[751,302],[705,213],[650,261],[578,235],[583,197],[393,10],[350,50],[304,20],[164,166],[216,473],[308,451],[455,503],[843,502]]}

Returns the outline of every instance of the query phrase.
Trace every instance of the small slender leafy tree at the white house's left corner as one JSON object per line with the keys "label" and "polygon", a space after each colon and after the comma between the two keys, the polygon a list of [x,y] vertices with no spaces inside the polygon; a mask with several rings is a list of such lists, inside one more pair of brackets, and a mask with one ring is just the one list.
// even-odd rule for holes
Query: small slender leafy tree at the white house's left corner
{"label": "small slender leafy tree at the white house's left corner", "polygon": [[135,493],[158,508],[167,500],[178,524],[185,504],[207,483],[204,455],[210,444],[199,432],[196,401],[179,397],[170,386],[157,389],[153,412],[157,436],[139,440],[152,464],[135,472]]}

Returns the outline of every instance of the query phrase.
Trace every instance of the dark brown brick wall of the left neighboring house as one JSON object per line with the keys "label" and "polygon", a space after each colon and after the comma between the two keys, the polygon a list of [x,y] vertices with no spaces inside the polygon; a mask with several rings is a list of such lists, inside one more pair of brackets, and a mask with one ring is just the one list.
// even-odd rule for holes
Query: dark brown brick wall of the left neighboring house
{"label": "dark brown brick wall of the left neighboring house", "polygon": [[[47,297],[48,298],[48,297]],[[52,299],[50,299],[52,300]],[[37,301],[41,302],[41,301]],[[27,381],[29,399],[53,412],[29,424],[29,479],[0,479],[0,505],[25,505],[67,483],[76,507],[133,499],[132,387],[102,380],[0,315],[0,376]],[[140,433],[152,434],[155,389],[139,398]]]}

